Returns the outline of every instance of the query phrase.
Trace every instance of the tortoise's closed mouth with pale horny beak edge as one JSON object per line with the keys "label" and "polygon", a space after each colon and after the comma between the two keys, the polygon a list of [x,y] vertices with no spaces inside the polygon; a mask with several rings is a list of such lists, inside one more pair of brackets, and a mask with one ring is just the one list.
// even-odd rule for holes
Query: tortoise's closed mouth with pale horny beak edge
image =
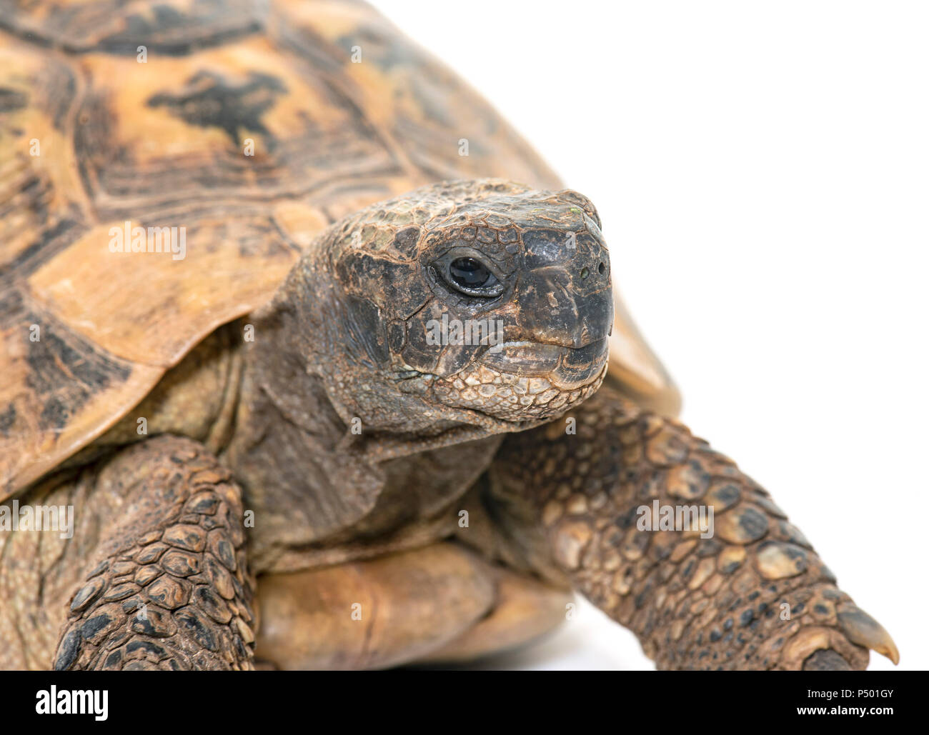
{"label": "tortoise's closed mouth with pale horny beak edge", "polygon": [[574,390],[596,380],[608,359],[608,339],[582,347],[545,342],[501,342],[483,356],[491,370],[527,378],[545,378],[560,390]]}

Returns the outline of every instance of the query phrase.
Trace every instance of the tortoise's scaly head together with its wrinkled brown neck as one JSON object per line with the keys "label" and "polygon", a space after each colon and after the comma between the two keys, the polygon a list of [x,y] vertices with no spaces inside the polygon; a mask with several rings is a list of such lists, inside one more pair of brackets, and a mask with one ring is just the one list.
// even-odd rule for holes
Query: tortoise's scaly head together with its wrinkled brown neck
{"label": "tortoise's scaly head together with its wrinkled brown neck", "polygon": [[[411,521],[431,522],[478,479],[503,432],[594,393],[612,318],[596,221],[576,193],[478,181],[425,187],[324,234],[255,315],[262,337],[244,357],[224,454],[247,502],[274,519],[274,533],[256,540],[258,558],[282,539],[288,548],[268,554],[409,534]],[[460,258],[484,264],[484,288],[495,292],[452,285]],[[554,305],[542,309],[540,294]],[[428,339],[443,316],[503,327],[494,343]],[[432,496],[398,512],[413,478]]]}

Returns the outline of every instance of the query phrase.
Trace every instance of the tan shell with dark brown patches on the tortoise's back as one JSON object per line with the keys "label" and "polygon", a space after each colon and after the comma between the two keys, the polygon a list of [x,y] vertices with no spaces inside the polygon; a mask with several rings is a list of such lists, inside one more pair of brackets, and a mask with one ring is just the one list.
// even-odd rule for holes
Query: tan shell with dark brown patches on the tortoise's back
{"label": "tan shell with dark brown patches on the tortoise's back", "polygon": [[[0,0],[0,498],[268,301],[322,228],[481,176],[561,187],[364,4]],[[137,227],[175,251],[131,251]],[[673,403],[618,313],[611,368]]]}

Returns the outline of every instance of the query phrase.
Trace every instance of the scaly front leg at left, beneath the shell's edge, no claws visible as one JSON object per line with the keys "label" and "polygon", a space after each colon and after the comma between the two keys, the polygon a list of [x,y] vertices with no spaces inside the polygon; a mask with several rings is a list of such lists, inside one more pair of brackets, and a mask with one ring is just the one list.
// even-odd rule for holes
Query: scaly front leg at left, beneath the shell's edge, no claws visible
{"label": "scaly front leg at left, beneath the shell's edge, no claws visible", "polygon": [[203,445],[162,436],[106,461],[97,489],[123,501],[78,509],[100,514],[100,539],[55,668],[252,668],[254,580],[229,471]]}

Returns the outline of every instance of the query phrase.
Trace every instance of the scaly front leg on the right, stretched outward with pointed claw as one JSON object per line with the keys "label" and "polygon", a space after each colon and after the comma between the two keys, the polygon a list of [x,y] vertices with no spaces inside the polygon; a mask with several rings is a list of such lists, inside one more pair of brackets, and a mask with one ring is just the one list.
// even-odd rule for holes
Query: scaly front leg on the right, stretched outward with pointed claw
{"label": "scaly front leg on the right, stretched outward with pointed claw", "polygon": [[[556,565],[660,668],[864,669],[868,649],[897,661],[890,636],[764,489],[607,386],[565,419],[508,437],[491,485],[511,519],[541,525]],[[656,500],[658,530],[648,530]],[[705,521],[712,508],[712,535],[661,530],[666,507],[681,522],[699,520],[688,507]]]}

